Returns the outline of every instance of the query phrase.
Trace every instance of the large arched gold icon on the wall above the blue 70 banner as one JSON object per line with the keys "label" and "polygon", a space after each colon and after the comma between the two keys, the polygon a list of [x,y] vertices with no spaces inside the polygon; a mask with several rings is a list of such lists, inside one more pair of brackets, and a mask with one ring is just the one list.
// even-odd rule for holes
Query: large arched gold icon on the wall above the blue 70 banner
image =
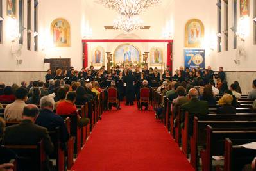
{"label": "large arched gold icon on the wall above the blue 70 banner", "polygon": [[185,25],[185,47],[201,47],[205,34],[203,22],[191,19]]}

